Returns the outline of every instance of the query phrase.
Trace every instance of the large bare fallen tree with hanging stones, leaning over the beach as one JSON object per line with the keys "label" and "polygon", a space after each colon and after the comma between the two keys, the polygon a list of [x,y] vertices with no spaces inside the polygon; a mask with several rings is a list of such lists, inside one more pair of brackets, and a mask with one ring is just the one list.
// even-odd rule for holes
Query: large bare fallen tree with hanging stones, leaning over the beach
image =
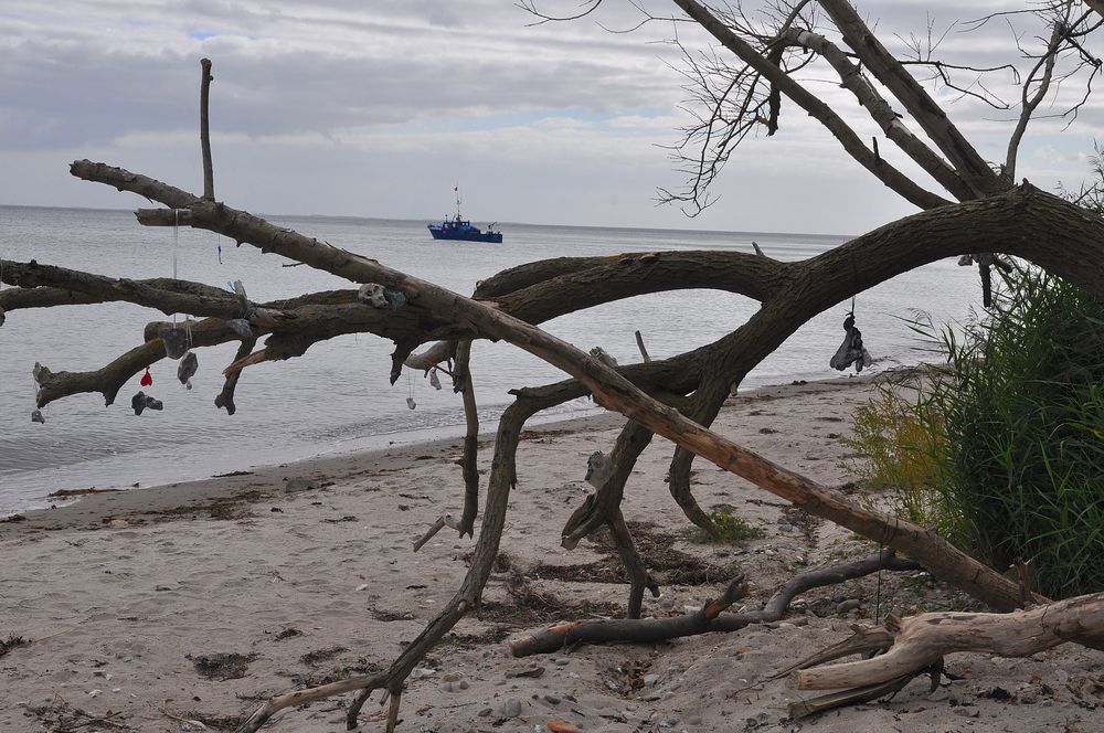
{"label": "large bare fallen tree with hanging stones, leaning over the beach", "polygon": [[[716,435],[709,425],[733,385],[810,318],[832,305],[922,264],[955,255],[1001,253],[1030,259],[1095,294],[1104,294],[1104,223],[1075,204],[1023,182],[1013,185],[1016,151],[1028,121],[1059,73],[1059,61],[1074,59],[1072,76],[1092,70],[1091,63],[1065,52],[1080,49],[1080,39],[1100,25],[1091,12],[1074,12],[1076,3],[1058,3],[1041,14],[1051,29],[1038,53],[1039,63],[1023,82],[1019,124],[1009,144],[1002,170],[994,170],[958,132],[946,114],[873,36],[854,9],[846,2],[824,0],[819,8],[850,50],[842,50],[815,32],[817,20],[806,17],[811,3],[798,2],[769,32],[754,28],[739,15],[707,8],[692,0],[675,0],[686,17],[707,31],[741,65],[728,70],[729,92],[692,130],[690,140],[704,140],[683,200],[704,205],[708,183],[753,126],[777,130],[783,97],[811,115],[828,129],[843,150],[885,185],[922,211],[882,226],[847,244],[798,263],[782,263],[761,254],[730,252],[655,252],[614,258],[555,258],[530,263],[479,283],[465,297],[432,283],[385,267],[368,257],[275,226],[214,198],[210,140],[206,130],[210,62],[201,77],[201,141],[204,193],[182,189],[105,163],[78,160],[71,172],[86,181],[112,185],[160,203],[164,209],[141,210],[145,225],[187,225],[229,236],[240,244],[277,253],[298,263],[350,280],[346,290],[316,293],[299,298],[256,304],[244,289],[229,294],[200,283],[182,280],[119,280],[66,270],[38,262],[0,263],[0,277],[15,286],[0,293],[0,315],[22,308],[60,307],[106,301],[128,301],[163,312],[202,318],[189,325],[185,347],[200,348],[238,341],[235,360],[225,369],[226,381],[216,404],[233,412],[234,387],[245,370],[266,362],[304,355],[319,341],[346,333],[373,333],[395,343],[391,380],[403,369],[428,369],[456,358],[454,389],[464,392],[468,415],[465,442],[461,519],[442,520],[459,533],[471,534],[479,514],[478,477],[475,474],[475,397],[468,344],[474,339],[507,341],[560,368],[570,380],[522,387],[502,414],[495,440],[482,517],[471,565],[463,584],[444,609],[391,666],[376,674],[352,677],[331,684],[297,690],[267,701],[242,724],[256,731],[279,710],[335,694],[358,691],[348,712],[350,727],[368,695],[383,689],[391,699],[389,730],[397,721],[402,689],[414,666],[455,624],[479,604],[490,576],[516,484],[516,450],[522,427],[532,415],[562,402],[590,394],[607,410],[628,418],[616,445],[605,458],[594,495],[576,510],[564,528],[563,543],[573,546],[599,527],[612,530],[630,581],[629,616],[637,617],[645,589],[655,589],[646,559],[634,546],[622,509],[627,480],[640,453],[654,435],[677,444],[671,461],[671,493],[690,521],[713,530],[708,516],[690,491],[690,466],[701,456],[746,478],[763,489],[805,509],[810,514],[849,528],[906,555],[935,576],[964,589],[999,610],[1022,604],[1025,589],[949,544],[936,533],[896,517],[860,506],[847,496],[820,486],[783,466]],[[926,171],[952,199],[927,191],[877,149],[868,148],[851,125],[797,79],[806,54],[822,60],[837,74],[863,111],[869,114],[913,162]],[[850,61],[857,57],[861,64]],[[1080,59],[1080,61],[1076,61]],[[888,89],[904,114],[915,120],[927,140],[909,131],[890,100],[870,83],[862,68]],[[1091,72],[1094,74],[1095,72]],[[1091,78],[1091,76],[1090,76]],[[732,109],[737,110],[734,117]],[[712,147],[720,135],[722,144]],[[678,196],[672,196],[678,199]],[[978,258],[980,262],[980,257]],[[983,268],[983,276],[987,270]],[[611,366],[538,328],[556,316],[645,293],[669,289],[719,288],[761,302],[745,323],[718,341],[678,357],[625,366]],[[0,320],[2,322],[2,320]],[[179,358],[174,341],[181,339],[171,323],[153,322],[145,342],[110,364],[92,372],[53,371],[36,365],[39,407],[82,392],[99,392],[112,404],[121,386],[149,364]],[[264,347],[257,340],[267,337]],[[429,344],[421,354],[414,351]],[[739,587],[739,585],[736,586]],[[707,615],[687,622],[701,630],[714,623],[736,588]],[[792,596],[790,596],[792,597]],[[1044,602],[1031,597],[1032,602]],[[730,601],[731,602],[731,601]],[[1047,606],[1040,606],[1047,607]],[[772,612],[774,613],[774,612]],[[1096,616],[1085,616],[1096,624]],[[639,622],[645,624],[646,622]],[[1086,627],[1076,640],[1092,642],[1097,627]],[[885,640],[885,637],[881,637]],[[1013,647],[1010,647],[1013,648]]]}

